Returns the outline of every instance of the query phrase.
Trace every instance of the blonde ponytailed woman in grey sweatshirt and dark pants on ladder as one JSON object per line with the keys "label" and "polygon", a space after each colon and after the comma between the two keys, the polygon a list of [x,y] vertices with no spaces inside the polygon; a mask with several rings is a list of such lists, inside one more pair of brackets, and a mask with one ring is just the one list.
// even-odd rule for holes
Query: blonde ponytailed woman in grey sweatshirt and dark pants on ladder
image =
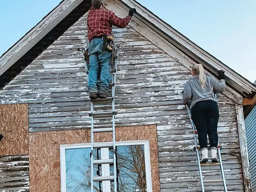
{"label": "blonde ponytailed woman in grey sweatshirt and dark pants on ladder", "polygon": [[193,76],[185,83],[183,92],[183,102],[185,104],[191,101],[191,116],[196,126],[198,140],[202,151],[201,163],[208,161],[207,134],[211,147],[211,160],[218,162],[217,147],[218,147],[218,120],[219,109],[217,99],[214,97],[214,92],[225,91],[226,84],[224,80],[224,71],[219,71],[219,80],[215,80],[204,74],[202,64],[196,64],[192,68]]}

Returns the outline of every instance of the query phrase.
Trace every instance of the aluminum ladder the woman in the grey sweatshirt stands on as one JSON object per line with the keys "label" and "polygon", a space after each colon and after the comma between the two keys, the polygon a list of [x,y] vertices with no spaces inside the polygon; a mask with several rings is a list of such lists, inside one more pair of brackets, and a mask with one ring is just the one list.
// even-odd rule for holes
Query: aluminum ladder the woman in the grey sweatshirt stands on
{"label": "aluminum ladder the woman in the grey sweatshirt stands on", "polygon": [[[217,93],[215,93],[215,98],[217,98]],[[196,126],[193,123],[192,117],[191,117],[191,110],[189,108],[189,105],[186,105],[187,108],[187,112],[189,115],[189,119],[193,128],[193,135],[194,135],[194,140],[195,140],[195,147],[193,147],[193,150],[196,152],[197,155],[197,162],[198,162],[198,168],[199,168],[199,175],[200,175],[200,181],[201,181],[201,186],[202,186],[202,192],[204,192],[204,183],[218,183],[218,182],[223,182],[223,187],[224,187],[224,191],[227,192],[227,185],[226,185],[226,180],[225,180],[225,174],[224,174],[224,170],[223,170],[223,165],[222,165],[222,159],[221,159],[221,150],[222,147],[219,145],[219,140],[218,140],[218,155],[219,155],[219,162],[218,163],[202,163],[200,162],[200,158],[199,158],[199,146],[197,143],[197,131],[196,131]],[[211,179],[211,180],[204,180],[203,179],[203,174],[202,174],[202,169],[201,167],[207,167],[207,166],[216,166],[216,165],[220,165],[221,168],[221,174],[222,174],[222,179]]]}

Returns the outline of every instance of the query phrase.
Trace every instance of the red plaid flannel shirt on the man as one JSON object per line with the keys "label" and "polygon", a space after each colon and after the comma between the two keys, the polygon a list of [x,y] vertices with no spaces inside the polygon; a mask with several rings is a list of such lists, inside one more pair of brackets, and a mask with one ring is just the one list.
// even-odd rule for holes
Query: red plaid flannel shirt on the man
{"label": "red plaid flannel shirt on the man", "polygon": [[118,18],[112,11],[91,7],[87,18],[89,42],[93,37],[111,35],[112,25],[120,28],[126,27],[130,20],[131,16],[122,19]]}

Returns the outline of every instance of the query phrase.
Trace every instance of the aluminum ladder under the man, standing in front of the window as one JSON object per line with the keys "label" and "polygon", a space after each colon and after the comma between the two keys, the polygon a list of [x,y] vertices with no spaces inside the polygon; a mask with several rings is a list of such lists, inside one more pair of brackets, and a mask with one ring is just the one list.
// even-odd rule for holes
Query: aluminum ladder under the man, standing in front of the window
{"label": "aluminum ladder under the man, standing in front of the window", "polygon": [[[85,46],[85,48],[88,45]],[[111,88],[111,97],[105,98],[105,99],[91,99],[91,113],[89,113],[89,116],[91,117],[91,192],[93,192],[93,182],[99,182],[99,188],[101,188],[100,183],[103,181],[114,181],[114,192],[117,192],[117,154],[116,154],[116,138],[115,138],[115,115],[117,112],[115,111],[115,85],[116,85],[116,76],[117,76],[117,65],[118,65],[118,52],[119,47],[114,48],[114,45],[112,46],[112,60],[111,60],[111,82],[109,87]],[[85,49],[86,50],[86,49]],[[85,51],[83,50],[83,51]],[[85,70],[86,73],[89,74],[89,63],[86,61],[86,58],[84,58],[85,61]],[[94,105],[97,104],[97,102],[111,102],[112,104],[112,111],[109,112],[94,112]],[[107,104],[107,103],[104,103]],[[95,128],[94,129],[94,119],[106,119],[106,117],[112,117],[112,127],[110,128]],[[113,142],[108,142],[108,145],[101,144],[101,143],[94,143],[94,133],[106,133],[106,132],[112,132],[113,133]],[[112,148],[113,147],[113,159],[99,159],[94,160],[94,149],[99,148]],[[94,165],[102,166],[102,165],[114,165],[114,175],[113,176],[96,176],[94,177]],[[99,172],[97,172],[99,174]],[[101,189],[100,189],[101,190]],[[110,190],[110,186],[109,189]],[[109,191],[110,192],[110,191]]]}

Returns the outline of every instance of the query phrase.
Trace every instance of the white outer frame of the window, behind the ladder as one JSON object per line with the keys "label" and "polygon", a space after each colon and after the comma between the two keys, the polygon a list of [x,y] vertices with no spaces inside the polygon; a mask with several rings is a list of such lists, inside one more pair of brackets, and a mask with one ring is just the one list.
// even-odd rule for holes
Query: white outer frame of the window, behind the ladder
{"label": "white outer frame of the window, behind the ladder", "polygon": [[[97,143],[94,143],[97,144]],[[112,142],[100,143],[104,146],[111,146]],[[150,147],[148,140],[136,140],[136,141],[120,141],[116,142],[116,146],[128,146],[128,145],[144,145],[145,154],[145,166],[146,166],[146,182],[147,192],[153,192],[152,179],[151,179],[151,164],[150,164]],[[91,148],[91,143],[81,144],[65,144],[60,145],[60,181],[61,181],[61,192],[66,192],[66,159],[65,150],[72,148]]]}

